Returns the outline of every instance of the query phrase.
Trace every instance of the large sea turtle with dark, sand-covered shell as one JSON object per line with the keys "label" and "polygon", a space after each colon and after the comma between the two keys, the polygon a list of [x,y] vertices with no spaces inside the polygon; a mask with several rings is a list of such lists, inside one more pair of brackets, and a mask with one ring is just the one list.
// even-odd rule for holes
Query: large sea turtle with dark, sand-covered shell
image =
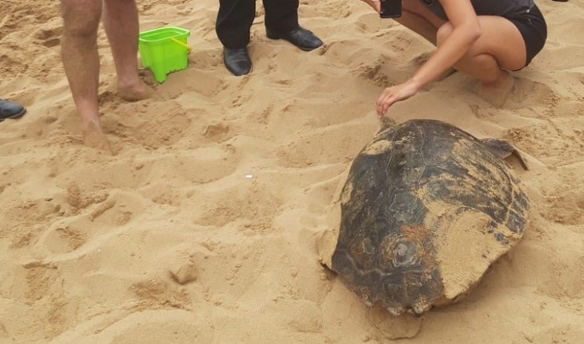
{"label": "large sea turtle with dark, sand-covered shell", "polygon": [[504,140],[438,120],[381,129],[339,184],[322,263],[394,315],[460,299],[524,233],[528,199],[502,160],[511,153],[522,160]]}

